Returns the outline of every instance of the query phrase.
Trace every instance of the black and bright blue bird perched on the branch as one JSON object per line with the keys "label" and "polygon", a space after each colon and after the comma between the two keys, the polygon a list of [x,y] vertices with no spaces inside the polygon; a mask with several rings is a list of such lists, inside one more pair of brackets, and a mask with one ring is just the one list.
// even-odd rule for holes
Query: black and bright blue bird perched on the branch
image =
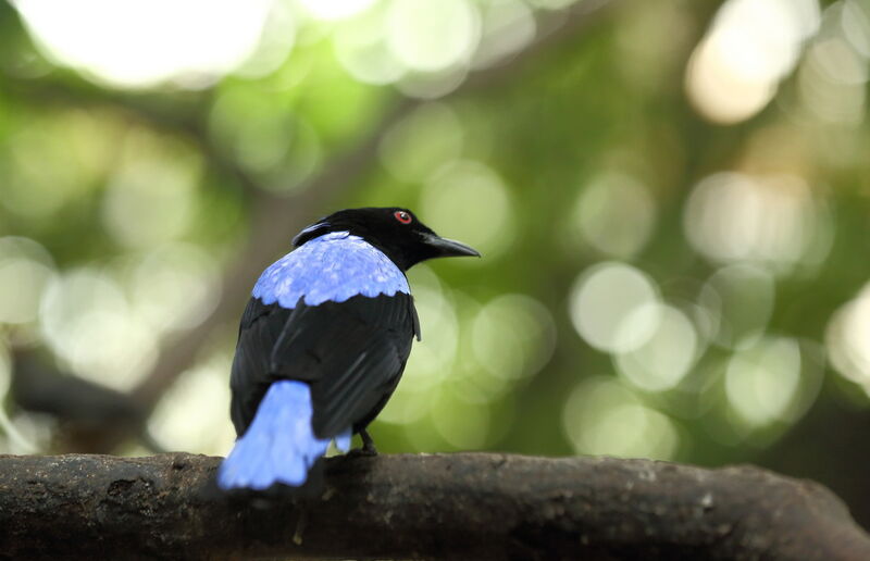
{"label": "black and bright blue bird perched on the branch", "polygon": [[[376,448],[366,427],[396,389],[420,321],[406,271],[480,253],[408,209],[346,209],[293,239],[266,267],[241,316],[229,386],[236,442],[224,490],[302,488],[332,441]],[[313,485],[313,484],[312,484]]]}

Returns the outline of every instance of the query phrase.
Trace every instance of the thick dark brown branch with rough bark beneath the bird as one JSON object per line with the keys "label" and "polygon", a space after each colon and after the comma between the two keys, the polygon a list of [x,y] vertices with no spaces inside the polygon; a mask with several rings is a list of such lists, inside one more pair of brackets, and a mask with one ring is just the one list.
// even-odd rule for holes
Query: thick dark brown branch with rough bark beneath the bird
{"label": "thick dark brown branch with rough bark beneath the bird", "polygon": [[227,497],[219,458],[0,457],[9,559],[870,559],[824,487],[754,466],[339,457],[318,499]]}

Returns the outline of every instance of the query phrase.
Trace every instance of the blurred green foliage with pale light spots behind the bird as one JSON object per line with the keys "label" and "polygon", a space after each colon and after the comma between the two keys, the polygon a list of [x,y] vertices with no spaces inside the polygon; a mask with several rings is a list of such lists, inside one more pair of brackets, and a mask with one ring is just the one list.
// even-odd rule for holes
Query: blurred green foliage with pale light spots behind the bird
{"label": "blurred green foliage with pale light spots behind the bird", "polygon": [[[232,287],[321,214],[407,205],[485,257],[409,275],[380,449],[753,461],[870,522],[866,3],[275,0],[244,64],[135,85],[37,3],[0,8],[0,394],[21,349],[129,390],[194,346],[148,427],[223,453]],[[59,447],[7,406],[0,451]]]}

